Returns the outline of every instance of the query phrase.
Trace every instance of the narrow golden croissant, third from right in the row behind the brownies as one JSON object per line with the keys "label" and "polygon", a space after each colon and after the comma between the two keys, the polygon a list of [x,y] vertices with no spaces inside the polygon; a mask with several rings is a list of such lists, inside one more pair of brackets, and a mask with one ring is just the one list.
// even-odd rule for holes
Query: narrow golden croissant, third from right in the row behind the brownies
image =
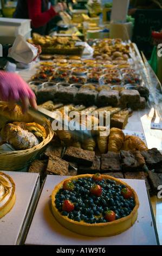
{"label": "narrow golden croissant, third from right in the row behind the brownies", "polygon": [[97,143],[101,154],[107,153],[109,129],[106,126],[98,126]]}

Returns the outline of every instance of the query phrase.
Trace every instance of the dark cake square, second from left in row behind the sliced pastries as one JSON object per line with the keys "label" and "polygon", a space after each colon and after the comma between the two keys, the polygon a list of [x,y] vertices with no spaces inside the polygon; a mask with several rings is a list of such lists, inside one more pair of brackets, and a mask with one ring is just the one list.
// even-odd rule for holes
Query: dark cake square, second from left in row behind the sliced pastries
{"label": "dark cake square, second from left in row behind the sliced pastries", "polygon": [[76,87],[59,86],[55,94],[55,99],[63,103],[72,103],[74,102],[77,90]]}

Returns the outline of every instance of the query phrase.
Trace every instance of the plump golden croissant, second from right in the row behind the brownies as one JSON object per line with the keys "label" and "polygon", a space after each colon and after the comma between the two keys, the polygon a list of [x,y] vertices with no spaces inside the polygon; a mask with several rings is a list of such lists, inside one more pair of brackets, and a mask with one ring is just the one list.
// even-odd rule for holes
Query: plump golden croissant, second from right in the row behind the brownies
{"label": "plump golden croissant, second from right in the row behind the brownies", "polygon": [[108,137],[108,151],[119,153],[124,144],[124,132],[118,128],[111,128]]}

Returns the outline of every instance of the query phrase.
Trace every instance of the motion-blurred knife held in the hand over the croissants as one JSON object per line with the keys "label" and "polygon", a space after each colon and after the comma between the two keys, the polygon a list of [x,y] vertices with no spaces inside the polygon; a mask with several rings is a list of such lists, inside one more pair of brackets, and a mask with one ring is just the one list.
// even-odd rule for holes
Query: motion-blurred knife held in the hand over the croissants
{"label": "motion-blurred knife held in the hand over the croissants", "polygon": [[60,120],[57,115],[54,112],[49,111],[48,109],[42,108],[40,106],[37,106],[37,111],[35,111],[33,108],[29,107],[28,113],[32,115],[35,120],[37,120],[40,123],[43,123],[43,117],[47,118],[51,122],[51,127],[53,128],[53,121],[55,120],[55,123],[57,122],[58,126],[63,127],[64,130],[72,133],[72,136],[74,139],[85,142],[86,139],[92,138],[95,135],[92,134],[90,130],[87,129],[86,126],[81,126],[79,123],[75,123],[75,129],[70,121],[63,121]]}

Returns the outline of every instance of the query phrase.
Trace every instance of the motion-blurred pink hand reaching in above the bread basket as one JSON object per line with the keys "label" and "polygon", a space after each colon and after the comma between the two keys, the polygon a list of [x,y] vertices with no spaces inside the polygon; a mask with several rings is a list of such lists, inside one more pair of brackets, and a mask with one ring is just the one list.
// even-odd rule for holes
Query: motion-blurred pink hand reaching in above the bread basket
{"label": "motion-blurred pink hand reaching in above the bread basket", "polygon": [[22,112],[27,113],[29,104],[37,110],[36,97],[33,90],[20,75],[0,70],[0,98],[11,103],[21,101]]}

